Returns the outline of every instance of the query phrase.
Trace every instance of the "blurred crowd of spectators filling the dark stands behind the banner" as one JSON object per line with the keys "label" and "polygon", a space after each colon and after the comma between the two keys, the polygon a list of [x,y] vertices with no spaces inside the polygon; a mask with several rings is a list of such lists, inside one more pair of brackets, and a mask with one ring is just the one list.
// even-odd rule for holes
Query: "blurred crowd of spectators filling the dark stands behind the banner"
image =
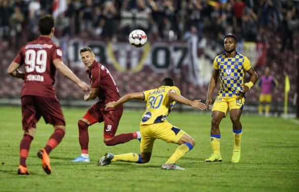
{"label": "blurred crowd of spectators filling the dark stands behind the banner", "polygon": [[[293,72],[290,80],[296,87],[298,13],[299,1],[292,0],[0,0],[0,56],[13,56],[34,40],[39,35],[38,18],[53,14],[58,39],[79,36],[113,42],[127,40],[130,31],[138,28],[150,41],[186,41],[196,33],[199,41],[206,39],[221,50],[223,36],[228,33],[235,34],[238,41],[264,42],[266,65],[278,81],[283,81],[284,73]],[[9,51],[2,52],[5,45]],[[2,65],[10,62],[2,60]],[[256,70],[262,74],[263,68]],[[276,93],[283,97],[282,89]],[[204,93],[198,94],[198,90]],[[296,89],[292,90],[295,94]],[[137,90],[122,94],[130,91]],[[206,87],[187,92],[190,98],[202,95],[204,99]],[[258,93],[255,95],[253,101],[257,101]]]}

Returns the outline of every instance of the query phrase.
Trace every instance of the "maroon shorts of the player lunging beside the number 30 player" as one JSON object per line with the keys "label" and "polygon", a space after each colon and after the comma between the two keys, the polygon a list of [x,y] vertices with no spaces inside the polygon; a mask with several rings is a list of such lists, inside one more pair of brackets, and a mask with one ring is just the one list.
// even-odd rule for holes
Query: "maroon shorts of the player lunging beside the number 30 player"
{"label": "maroon shorts of the player lunging beside the number 30 player", "polygon": [[116,134],[119,121],[121,121],[124,107],[119,106],[116,110],[105,111],[101,109],[100,103],[93,104],[83,116],[91,125],[104,122],[104,137],[112,138]]}

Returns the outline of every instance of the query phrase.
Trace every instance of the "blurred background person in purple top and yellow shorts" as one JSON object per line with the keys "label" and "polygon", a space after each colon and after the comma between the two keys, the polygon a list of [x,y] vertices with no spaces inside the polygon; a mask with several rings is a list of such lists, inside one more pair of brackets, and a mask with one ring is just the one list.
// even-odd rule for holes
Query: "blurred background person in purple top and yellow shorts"
{"label": "blurred background person in purple top and yellow shorts", "polygon": [[263,106],[265,105],[265,117],[269,117],[272,91],[278,87],[278,82],[275,77],[270,74],[269,67],[265,68],[264,74],[257,81],[256,87],[260,90],[258,114],[262,116]]}

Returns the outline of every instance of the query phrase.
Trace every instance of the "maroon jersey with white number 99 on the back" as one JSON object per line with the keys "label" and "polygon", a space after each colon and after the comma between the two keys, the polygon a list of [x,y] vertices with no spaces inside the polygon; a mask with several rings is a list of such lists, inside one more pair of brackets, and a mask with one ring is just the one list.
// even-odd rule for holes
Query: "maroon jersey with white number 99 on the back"
{"label": "maroon jersey with white number 99 on the back", "polygon": [[55,97],[54,59],[62,60],[62,50],[48,37],[40,36],[21,48],[14,59],[14,62],[24,64],[25,67],[21,97],[24,95]]}

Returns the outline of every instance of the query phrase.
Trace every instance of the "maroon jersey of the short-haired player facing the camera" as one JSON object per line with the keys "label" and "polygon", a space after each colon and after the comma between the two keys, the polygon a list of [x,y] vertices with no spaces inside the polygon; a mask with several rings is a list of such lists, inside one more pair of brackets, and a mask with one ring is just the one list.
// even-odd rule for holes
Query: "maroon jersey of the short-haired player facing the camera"
{"label": "maroon jersey of the short-haired player facing the camera", "polygon": [[[109,70],[104,67],[104,65],[95,60],[91,69],[87,69],[86,72],[89,75],[91,88],[99,88],[98,98],[100,100],[101,110],[105,109],[105,104],[111,101],[117,101],[121,98],[112,75]],[[119,107],[123,107],[123,105],[119,105],[115,108],[109,108],[107,110],[115,110]]]}

